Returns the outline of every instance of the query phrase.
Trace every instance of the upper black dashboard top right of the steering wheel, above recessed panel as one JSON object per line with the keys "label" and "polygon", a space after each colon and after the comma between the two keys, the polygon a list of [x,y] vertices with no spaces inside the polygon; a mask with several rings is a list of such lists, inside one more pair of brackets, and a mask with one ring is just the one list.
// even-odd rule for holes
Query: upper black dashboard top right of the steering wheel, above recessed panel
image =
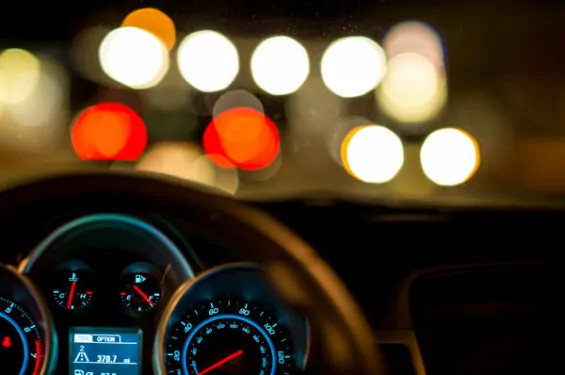
{"label": "upper black dashboard top right of the steering wheel, above recessed panel", "polygon": [[375,329],[395,324],[399,294],[423,271],[565,260],[555,245],[565,216],[555,209],[408,209],[339,201],[261,208],[324,256]]}

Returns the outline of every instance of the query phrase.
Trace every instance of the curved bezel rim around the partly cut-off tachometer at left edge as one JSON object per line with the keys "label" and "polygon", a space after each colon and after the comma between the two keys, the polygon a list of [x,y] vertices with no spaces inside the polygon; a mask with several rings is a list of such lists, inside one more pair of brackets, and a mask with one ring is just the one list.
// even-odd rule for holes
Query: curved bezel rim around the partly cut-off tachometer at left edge
{"label": "curved bezel rim around the partly cut-off tachometer at left edge", "polygon": [[53,373],[57,363],[57,335],[46,301],[27,276],[10,266],[0,264],[0,279],[8,281],[0,285],[0,293],[24,308],[43,334],[45,353],[39,374]]}

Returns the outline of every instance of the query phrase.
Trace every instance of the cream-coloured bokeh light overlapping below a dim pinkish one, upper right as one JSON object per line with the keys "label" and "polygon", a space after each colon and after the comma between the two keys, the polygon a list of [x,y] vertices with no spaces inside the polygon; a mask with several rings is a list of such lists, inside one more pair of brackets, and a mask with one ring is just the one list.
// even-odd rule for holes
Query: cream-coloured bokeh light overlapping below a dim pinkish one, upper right
{"label": "cream-coloured bokeh light overlapping below a dim pinkish one, upper right", "polygon": [[436,70],[427,58],[417,53],[403,53],[389,61],[377,95],[378,104],[387,115],[407,123],[435,117],[446,99],[443,70]]}

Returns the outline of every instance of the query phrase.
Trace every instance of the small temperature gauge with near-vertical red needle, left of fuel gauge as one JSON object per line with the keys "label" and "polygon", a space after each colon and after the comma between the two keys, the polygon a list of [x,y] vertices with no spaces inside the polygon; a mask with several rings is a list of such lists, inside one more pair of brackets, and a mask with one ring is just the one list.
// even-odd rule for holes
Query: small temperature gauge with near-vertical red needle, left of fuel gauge
{"label": "small temperature gauge with near-vertical red needle, left of fuel gauge", "polygon": [[65,310],[84,310],[94,297],[94,276],[88,266],[73,261],[55,271],[53,299]]}

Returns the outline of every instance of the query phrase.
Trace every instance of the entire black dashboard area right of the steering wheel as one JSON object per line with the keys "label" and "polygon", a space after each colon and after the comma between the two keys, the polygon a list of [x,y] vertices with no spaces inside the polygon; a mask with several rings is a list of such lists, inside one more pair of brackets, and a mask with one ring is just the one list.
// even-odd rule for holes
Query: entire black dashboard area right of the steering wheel
{"label": "entire black dashboard area right of the steering wheel", "polygon": [[[565,368],[562,211],[408,210],[345,202],[264,208],[317,248],[346,281],[391,374]],[[417,344],[388,341],[390,331],[413,332]]]}

